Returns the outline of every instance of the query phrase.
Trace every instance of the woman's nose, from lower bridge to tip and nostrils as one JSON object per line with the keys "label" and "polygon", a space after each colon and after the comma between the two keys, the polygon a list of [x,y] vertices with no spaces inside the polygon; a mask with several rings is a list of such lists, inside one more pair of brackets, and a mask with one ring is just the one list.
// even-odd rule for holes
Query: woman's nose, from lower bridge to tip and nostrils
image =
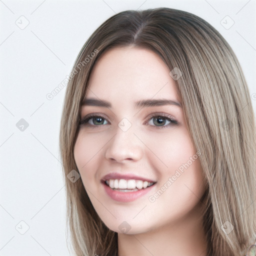
{"label": "woman's nose, from lower bridge to tip and nostrils", "polygon": [[117,126],[116,134],[107,143],[105,158],[116,162],[138,161],[143,156],[142,146],[132,127],[123,131]]}

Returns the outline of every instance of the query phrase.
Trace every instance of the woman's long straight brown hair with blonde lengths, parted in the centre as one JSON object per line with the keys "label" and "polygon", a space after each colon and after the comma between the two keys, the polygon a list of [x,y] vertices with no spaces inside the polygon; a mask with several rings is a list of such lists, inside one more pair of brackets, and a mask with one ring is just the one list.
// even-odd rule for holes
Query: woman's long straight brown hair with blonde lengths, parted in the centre
{"label": "woman's long straight brown hair with blonde lengths, parted in the centre", "polygon": [[[103,52],[125,46],[150,49],[169,70],[182,72],[176,86],[207,184],[202,200],[207,255],[245,255],[256,229],[256,136],[247,84],[234,52],[215,28],[192,13],[170,8],[111,16],[75,60],[59,135],[66,221],[75,255],[118,255],[117,233],[99,218],[81,179],[71,182],[67,174],[79,171],[73,149],[91,70]],[[221,228],[225,224],[233,227],[228,234]]]}

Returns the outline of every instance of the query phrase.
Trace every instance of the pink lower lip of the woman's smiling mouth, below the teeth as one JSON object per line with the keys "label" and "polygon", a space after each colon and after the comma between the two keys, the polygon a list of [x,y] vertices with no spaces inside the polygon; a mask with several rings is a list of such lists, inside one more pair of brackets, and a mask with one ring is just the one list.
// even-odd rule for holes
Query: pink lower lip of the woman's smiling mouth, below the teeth
{"label": "pink lower lip of the woman's smiling mouth, below the teeth", "polygon": [[139,189],[137,191],[131,191],[131,192],[123,192],[123,191],[113,190],[112,188],[110,188],[105,183],[103,183],[103,186],[105,188],[106,193],[113,200],[119,201],[119,202],[130,202],[130,201],[134,201],[138,197],[140,197],[140,196],[146,194],[147,192],[149,192],[151,190],[152,186],[154,186],[154,184],[151,185],[151,186],[148,186],[146,188],[142,188],[142,189]]}

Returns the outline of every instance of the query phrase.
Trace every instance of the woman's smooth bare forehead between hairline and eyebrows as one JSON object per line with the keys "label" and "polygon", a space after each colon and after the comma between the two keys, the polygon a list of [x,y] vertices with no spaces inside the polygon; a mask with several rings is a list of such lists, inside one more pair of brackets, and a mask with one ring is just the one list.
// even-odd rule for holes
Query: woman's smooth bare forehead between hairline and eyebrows
{"label": "woman's smooth bare forehead between hairline and eyebrows", "polygon": [[[127,46],[104,52],[90,74],[87,97],[107,100],[179,99],[169,68],[152,50]],[[88,89],[89,88],[89,89]]]}

